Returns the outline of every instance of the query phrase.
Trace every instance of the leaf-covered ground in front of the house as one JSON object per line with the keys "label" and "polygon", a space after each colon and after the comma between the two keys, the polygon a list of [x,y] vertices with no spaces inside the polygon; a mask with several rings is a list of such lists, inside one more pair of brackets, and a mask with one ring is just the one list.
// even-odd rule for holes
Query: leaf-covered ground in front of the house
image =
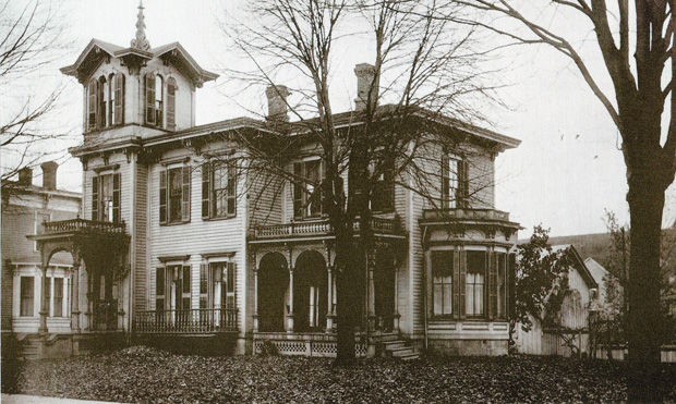
{"label": "leaf-covered ground in front of the house", "polygon": [[[14,385],[3,380],[3,392],[118,402],[626,400],[623,364],[546,357],[365,359],[346,369],[322,358],[181,356],[133,346],[2,365],[17,375]],[[676,401],[675,365],[663,367],[659,385]]]}

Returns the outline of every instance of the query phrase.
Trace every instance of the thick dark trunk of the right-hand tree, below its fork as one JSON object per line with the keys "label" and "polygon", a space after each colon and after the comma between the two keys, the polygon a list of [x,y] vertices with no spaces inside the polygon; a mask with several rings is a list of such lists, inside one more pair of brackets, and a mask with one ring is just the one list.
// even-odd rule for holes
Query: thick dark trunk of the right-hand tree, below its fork
{"label": "thick dark trunk of the right-hand tree, below its fork", "polygon": [[635,170],[629,174],[628,394],[630,402],[655,402],[661,401],[656,382],[660,346],[664,338],[660,310],[660,234],[664,188],[657,180],[657,171]]}

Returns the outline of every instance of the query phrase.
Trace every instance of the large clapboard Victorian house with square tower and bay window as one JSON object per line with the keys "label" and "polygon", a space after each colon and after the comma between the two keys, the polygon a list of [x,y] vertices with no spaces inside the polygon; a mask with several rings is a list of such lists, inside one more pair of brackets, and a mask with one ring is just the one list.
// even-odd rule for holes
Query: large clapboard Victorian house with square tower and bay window
{"label": "large clapboard Victorian house with square tower and bay window", "polygon": [[[130,47],[94,39],[62,69],[83,87],[84,142],[71,149],[83,163],[82,219],[47,223],[32,238],[43,266],[56,250],[74,257],[69,332],[167,343],[206,335],[238,354],[274,344],[335,355],[335,237],[313,199],[321,157],[306,145],[280,166],[306,181],[278,194],[234,164],[246,146],[231,134],[275,135],[285,88],[268,88],[268,120],[197,126],[196,89],[217,75],[178,42],[150,47],[142,8],[136,27]],[[369,70],[357,66],[359,86]],[[335,118],[350,125],[351,113]],[[496,155],[519,140],[444,125],[460,146],[432,156],[445,173],[436,203],[384,183],[372,206],[378,249],[360,287],[359,355],[507,352],[519,225],[494,208],[492,182]],[[43,334],[58,332],[41,320]]]}

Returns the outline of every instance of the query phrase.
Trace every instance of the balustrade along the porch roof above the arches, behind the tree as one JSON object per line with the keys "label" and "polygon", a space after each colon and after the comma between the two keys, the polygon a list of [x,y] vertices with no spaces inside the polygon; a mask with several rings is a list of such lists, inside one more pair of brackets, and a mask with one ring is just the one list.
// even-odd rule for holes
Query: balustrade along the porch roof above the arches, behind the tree
{"label": "balustrade along the porch roof above the arches, behind the tree", "polygon": [[[359,231],[359,221],[354,222],[354,230]],[[371,229],[376,234],[396,234],[399,231],[397,219],[373,218]],[[328,220],[299,221],[285,224],[262,225],[254,229],[256,238],[277,238],[290,236],[331,234]]]}

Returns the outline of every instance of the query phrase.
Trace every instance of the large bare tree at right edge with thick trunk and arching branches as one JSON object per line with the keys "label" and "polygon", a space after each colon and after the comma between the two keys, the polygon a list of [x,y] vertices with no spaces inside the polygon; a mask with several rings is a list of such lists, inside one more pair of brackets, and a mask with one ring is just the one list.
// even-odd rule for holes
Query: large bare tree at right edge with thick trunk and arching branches
{"label": "large bare tree at right edge with thick trunk and arching branches", "polygon": [[[473,8],[481,17],[450,20],[481,26],[510,44],[548,46],[572,61],[621,135],[632,246],[627,289],[629,359],[632,368],[640,370],[635,376],[650,377],[660,362],[663,323],[660,229],[664,194],[676,172],[674,3],[636,0],[630,7],[628,0],[613,4],[603,0],[551,0],[533,8],[530,2],[514,0],[452,2]],[[579,19],[593,29],[592,44],[603,58],[604,72],[592,70],[581,49],[587,41],[571,39],[579,27],[566,28],[572,26],[567,24],[569,19]],[[556,23],[562,25],[553,27]],[[611,79],[612,90],[604,90],[600,84],[604,76]],[[663,118],[668,122],[666,127]],[[648,385],[644,381],[635,380],[630,385],[630,400],[656,399],[650,395],[656,389],[643,389]]]}

